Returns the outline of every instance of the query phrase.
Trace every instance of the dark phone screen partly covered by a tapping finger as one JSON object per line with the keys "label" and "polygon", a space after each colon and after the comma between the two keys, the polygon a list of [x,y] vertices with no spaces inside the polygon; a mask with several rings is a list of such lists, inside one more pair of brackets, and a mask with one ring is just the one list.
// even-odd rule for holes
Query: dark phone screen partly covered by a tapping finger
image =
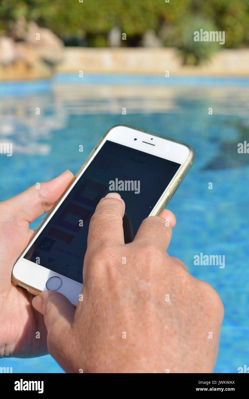
{"label": "dark phone screen partly covered by a tapping finger", "polygon": [[88,227],[100,199],[110,191],[124,199],[124,237],[131,242],[180,166],[107,140],[24,258],[82,283]]}

